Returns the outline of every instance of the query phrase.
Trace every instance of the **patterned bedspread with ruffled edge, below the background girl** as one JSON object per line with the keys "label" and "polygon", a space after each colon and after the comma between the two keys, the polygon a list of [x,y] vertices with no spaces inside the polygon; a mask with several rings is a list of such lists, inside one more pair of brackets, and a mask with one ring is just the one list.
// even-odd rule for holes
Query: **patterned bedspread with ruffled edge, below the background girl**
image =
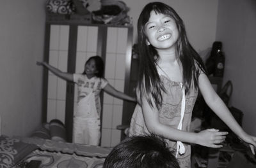
{"label": "patterned bedspread with ruffled edge, below the background girl", "polygon": [[40,160],[42,162],[40,168],[99,168],[102,167],[104,159],[111,151],[111,148],[58,142],[49,139],[20,137],[20,141],[36,144],[38,149],[22,159],[19,164],[15,165],[15,168],[22,167],[24,163],[31,160]]}

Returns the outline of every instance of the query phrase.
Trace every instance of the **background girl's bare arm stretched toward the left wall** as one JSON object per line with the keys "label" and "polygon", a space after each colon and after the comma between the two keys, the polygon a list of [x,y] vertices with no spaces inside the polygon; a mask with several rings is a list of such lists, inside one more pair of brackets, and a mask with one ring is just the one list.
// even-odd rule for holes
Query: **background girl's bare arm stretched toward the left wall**
{"label": "background girl's bare arm stretched toward the left wall", "polygon": [[56,76],[60,77],[63,80],[73,81],[73,74],[63,73],[62,71],[60,71],[60,69],[57,69],[56,67],[53,67],[47,64],[47,62],[36,62],[36,64],[38,66],[44,66],[46,69],[48,69],[53,74],[55,74]]}

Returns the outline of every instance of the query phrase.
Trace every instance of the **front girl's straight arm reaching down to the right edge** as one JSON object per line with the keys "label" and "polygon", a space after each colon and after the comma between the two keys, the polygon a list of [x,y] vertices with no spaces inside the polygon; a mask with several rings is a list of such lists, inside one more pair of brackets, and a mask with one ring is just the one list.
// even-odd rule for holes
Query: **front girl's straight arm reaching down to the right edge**
{"label": "front girl's straight arm reaching down to the right edge", "polygon": [[212,88],[211,82],[204,73],[200,74],[198,83],[200,92],[209,108],[211,108],[212,111],[214,111],[214,113],[216,113],[216,115],[218,115],[235,134],[237,134],[237,136],[250,144],[250,148],[254,154],[253,146],[256,147],[256,137],[250,136],[244,132],[225,103],[221,100],[220,96],[216,94],[215,90]]}

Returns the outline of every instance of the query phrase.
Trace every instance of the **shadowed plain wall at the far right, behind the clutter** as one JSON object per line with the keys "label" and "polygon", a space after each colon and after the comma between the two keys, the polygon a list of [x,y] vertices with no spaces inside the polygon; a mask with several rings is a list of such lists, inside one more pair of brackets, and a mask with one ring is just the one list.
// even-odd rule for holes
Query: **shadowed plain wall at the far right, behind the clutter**
{"label": "shadowed plain wall at the far right, behind the clutter", "polygon": [[[223,42],[224,81],[231,80],[231,106],[244,113],[243,128],[256,135],[256,1],[219,1],[216,40]],[[228,10],[227,10],[228,9]]]}

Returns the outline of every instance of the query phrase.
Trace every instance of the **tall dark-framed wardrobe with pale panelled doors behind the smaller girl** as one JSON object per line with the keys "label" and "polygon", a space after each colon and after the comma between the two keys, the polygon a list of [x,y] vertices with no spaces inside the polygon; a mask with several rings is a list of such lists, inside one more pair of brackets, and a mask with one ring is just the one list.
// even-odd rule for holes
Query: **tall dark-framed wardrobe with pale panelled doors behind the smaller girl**
{"label": "tall dark-framed wardrobe with pale panelled doors behind the smaller girl", "polygon": [[[104,77],[113,87],[130,95],[132,26],[90,24],[88,19],[54,18],[45,23],[44,60],[68,73],[83,73],[84,63],[100,55],[105,63]],[[65,123],[67,141],[72,142],[73,114],[76,110],[76,85],[44,70],[43,122],[56,118]],[[122,115],[129,102],[102,94],[101,145],[115,146],[120,142]]]}

